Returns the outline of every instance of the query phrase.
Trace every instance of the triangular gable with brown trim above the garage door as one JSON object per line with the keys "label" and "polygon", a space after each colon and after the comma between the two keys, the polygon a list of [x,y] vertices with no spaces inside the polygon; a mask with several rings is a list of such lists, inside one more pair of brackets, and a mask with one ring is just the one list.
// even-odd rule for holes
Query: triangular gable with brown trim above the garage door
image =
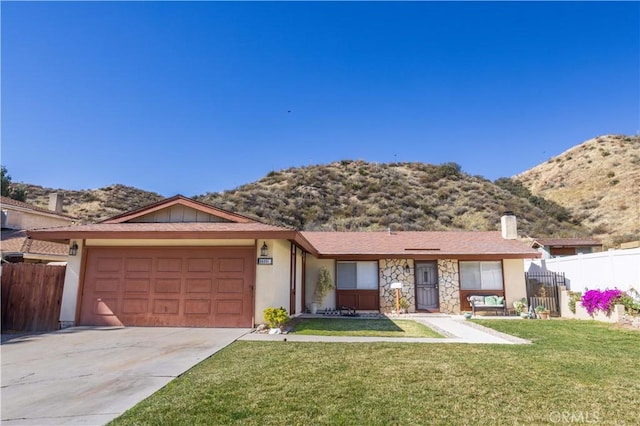
{"label": "triangular gable with brown trim above the garage door", "polygon": [[157,203],[103,220],[101,223],[185,223],[232,222],[257,223],[256,220],[201,203],[182,195],[166,198]]}

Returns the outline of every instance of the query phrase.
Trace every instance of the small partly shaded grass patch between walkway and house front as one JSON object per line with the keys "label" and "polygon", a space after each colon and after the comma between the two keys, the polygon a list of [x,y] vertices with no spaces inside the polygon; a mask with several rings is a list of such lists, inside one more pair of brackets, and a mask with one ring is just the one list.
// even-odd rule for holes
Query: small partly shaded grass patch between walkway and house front
{"label": "small partly shaded grass patch between walkway and house front", "polygon": [[314,336],[443,337],[412,320],[303,318],[292,325],[295,334]]}

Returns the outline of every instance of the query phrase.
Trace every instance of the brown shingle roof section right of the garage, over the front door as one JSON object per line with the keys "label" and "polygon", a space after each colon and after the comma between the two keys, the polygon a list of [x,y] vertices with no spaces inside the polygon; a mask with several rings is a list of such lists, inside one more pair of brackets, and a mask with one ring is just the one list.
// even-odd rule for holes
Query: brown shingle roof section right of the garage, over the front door
{"label": "brown shingle roof section right of the garage, over the front door", "polygon": [[322,257],[533,258],[539,253],[500,232],[302,232]]}

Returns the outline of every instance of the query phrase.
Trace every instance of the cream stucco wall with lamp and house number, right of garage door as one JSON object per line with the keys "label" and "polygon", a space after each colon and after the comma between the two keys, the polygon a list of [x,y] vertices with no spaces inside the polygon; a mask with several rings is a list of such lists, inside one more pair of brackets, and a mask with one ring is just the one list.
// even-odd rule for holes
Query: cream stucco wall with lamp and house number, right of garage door
{"label": "cream stucco wall with lamp and house number, right of garage door", "polygon": [[[260,256],[263,240],[256,247]],[[266,240],[273,265],[256,265],[255,323],[264,322],[264,310],[283,307],[289,312],[289,274],[291,243],[286,240]],[[256,261],[257,262],[257,261]]]}

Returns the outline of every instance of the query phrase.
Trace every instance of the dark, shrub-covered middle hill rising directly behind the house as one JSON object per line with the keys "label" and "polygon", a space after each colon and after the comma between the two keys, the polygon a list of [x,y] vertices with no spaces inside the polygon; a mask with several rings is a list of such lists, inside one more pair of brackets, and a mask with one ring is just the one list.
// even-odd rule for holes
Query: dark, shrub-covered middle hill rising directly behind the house
{"label": "dark, shrub-covered middle hill rising directly behind the house", "polygon": [[571,223],[570,215],[549,218],[527,197],[470,176],[455,163],[344,160],[271,172],[235,190],[197,198],[304,230],[494,230],[510,210],[523,234],[588,232]]}

